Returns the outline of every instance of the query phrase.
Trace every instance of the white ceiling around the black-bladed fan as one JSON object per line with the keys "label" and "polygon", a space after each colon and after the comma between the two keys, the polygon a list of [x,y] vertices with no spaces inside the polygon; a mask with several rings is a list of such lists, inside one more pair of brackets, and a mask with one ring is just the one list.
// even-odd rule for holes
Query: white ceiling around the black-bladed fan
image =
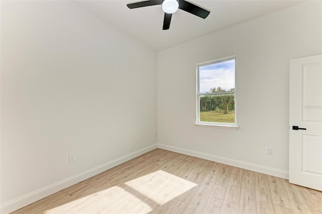
{"label": "white ceiling around the black-bladed fan", "polygon": [[73,1],[74,4],[155,51],[173,47],[303,1],[191,0],[190,2],[210,10],[209,16],[202,19],[178,10],[172,16],[169,30],[162,30],[164,19],[162,6],[128,9],[126,5],[133,2],[138,0]]}

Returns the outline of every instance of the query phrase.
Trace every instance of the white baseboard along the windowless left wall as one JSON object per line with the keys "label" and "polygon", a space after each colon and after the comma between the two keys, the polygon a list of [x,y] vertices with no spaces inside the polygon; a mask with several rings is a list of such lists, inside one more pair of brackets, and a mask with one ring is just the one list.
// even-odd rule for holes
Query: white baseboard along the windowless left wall
{"label": "white baseboard along the windowless left wall", "polygon": [[0,205],[0,213],[4,214],[4,213],[9,213],[14,210],[17,210],[17,209],[24,207],[30,203],[40,200],[41,198],[47,197],[47,196],[49,196],[55,192],[58,192],[64,188],[67,188],[67,187],[74,185],[78,182],[84,181],[90,177],[93,177],[101,172],[111,169],[117,165],[120,165],[126,161],[136,158],[136,157],[138,157],[144,153],[147,153],[149,151],[152,151],[156,148],[157,148],[156,144],[151,145],[149,147],[143,148],[141,150],[138,150],[136,152],[133,152],[131,154],[128,154],[126,156],[118,158],[116,160],[110,161],[106,164],[102,164],[101,166],[87,170],[83,173],[79,173],[79,174],[74,175],[70,178],[64,179],[62,181],[51,184],[49,186],[46,186],[44,188],[41,188],[41,189],[31,192],[29,194],[23,195],[23,196],[16,198],[14,200],[3,203]]}

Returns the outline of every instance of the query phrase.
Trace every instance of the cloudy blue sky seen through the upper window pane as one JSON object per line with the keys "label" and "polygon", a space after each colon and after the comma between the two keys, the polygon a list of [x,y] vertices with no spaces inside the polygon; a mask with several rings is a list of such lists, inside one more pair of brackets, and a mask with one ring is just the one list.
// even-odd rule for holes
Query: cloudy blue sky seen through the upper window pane
{"label": "cloudy blue sky seen through the upper window pane", "polygon": [[200,93],[221,87],[228,91],[235,87],[235,59],[199,66]]}

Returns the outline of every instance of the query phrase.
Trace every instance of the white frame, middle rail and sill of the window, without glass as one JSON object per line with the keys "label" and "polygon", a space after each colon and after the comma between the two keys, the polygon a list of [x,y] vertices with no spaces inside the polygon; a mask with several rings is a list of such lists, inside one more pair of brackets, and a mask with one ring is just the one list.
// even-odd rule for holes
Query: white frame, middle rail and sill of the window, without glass
{"label": "white frame, middle rail and sill of the window, without glass", "polygon": [[[215,64],[223,61],[228,61],[228,60],[235,60],[235,90],[233,92],[216,92],[216,93],[200,93],[200,87],[199,87],[199,67],[200,66],[205,66],[209,64]],[[236,103],[236,94],[237,94],[237,84],[236,84],[236,61],[237,57],[236,56],[229,56],[229,57],[224,57],[220,59],[215,59],[207,62],[202,62],[197,64],[197,72],[196,72],[196,86],[197,86],[197,94],[196,94],[196,100],[197,100],[197,108],[196,108],[196,116],[197,116],[197,121],[196,121],[196,126],[201,126],[201,127],[214,127],[214,128],[226,128],[226,129],[238,129],[238,124],[237,124],[237,103]],[[206,121],[200,121],[200,96],[202,95],[216,95],[216,94],[234,94],[234,104],[235,104],[235,122],[234,123],[221,123],[221,122],[206,122]]]}

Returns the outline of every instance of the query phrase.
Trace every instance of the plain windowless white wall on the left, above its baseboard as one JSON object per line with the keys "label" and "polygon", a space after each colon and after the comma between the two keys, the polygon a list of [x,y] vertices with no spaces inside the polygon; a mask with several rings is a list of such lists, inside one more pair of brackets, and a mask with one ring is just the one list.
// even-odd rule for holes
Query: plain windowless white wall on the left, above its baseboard
{"label": "plain windowless white wall on the left, above its baseboard", "polygon": [[1,204],[156,148],[156,125],[154,51],[71,2],[1,2]]}

